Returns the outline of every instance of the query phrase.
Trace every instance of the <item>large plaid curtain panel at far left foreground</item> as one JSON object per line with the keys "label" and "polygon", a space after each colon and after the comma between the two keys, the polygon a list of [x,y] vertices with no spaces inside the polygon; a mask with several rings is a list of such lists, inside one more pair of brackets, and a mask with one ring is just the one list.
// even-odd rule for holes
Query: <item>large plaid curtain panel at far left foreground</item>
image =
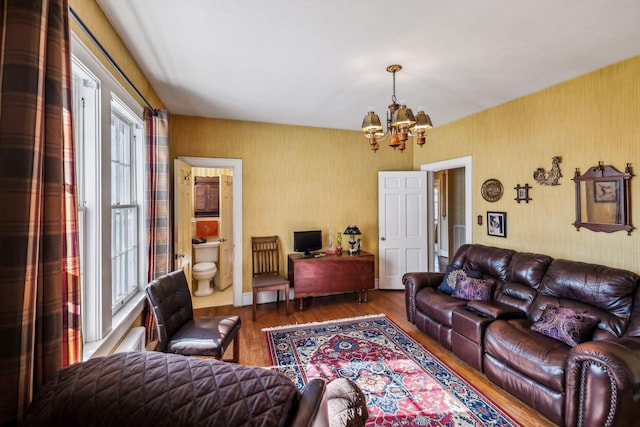
{"label": "large plaid curtain panel at far left foreground", "polygon": [[68,3],[0,7],[0,425],[15,425],[82,338]]}

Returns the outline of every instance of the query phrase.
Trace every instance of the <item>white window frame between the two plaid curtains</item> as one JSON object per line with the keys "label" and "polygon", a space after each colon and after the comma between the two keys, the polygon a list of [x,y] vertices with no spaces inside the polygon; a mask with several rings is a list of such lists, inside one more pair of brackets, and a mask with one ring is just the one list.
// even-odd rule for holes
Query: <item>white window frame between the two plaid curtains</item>
{"label": "white window frame between the two plaid curtains", "polygon": [[[87,238],[80,241],[80,281],[84,359],[109,354],[122,339],[144,307],[144,286],[148,261],[144,189],[146,184],[143,107],[122,87],[111,72],[72,34],[74,77],[73,114],[76,155],[84,156],[86,179],[78,188],[78,218]],[[83,96],[77,96],[80,89]],[[84,103],[84,120],[77,125]],[[87,103],[93,103],[88,106]],[[135,136],[135,190],[137,205],[137,288],[131,298],[112,307],[111,270],[111,113],[132,123]],[[81,147],[81,138],[86,147]],[[95,174],[91,172],[95,171]],[[96,207],[99,207],[96,209]]]}

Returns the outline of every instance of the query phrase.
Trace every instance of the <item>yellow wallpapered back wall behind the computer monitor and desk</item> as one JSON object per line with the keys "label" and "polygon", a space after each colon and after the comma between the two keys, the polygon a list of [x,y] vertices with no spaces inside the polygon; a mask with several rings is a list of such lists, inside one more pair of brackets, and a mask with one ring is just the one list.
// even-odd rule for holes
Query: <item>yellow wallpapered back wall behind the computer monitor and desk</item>
{"label": "yellow wallpapered back wall behind the computer monitor and desk", "polygon": [[355,223],[377,254],[378,171],[412,167],[411,148],[373,153],[359,131],[173,115],[170,134],[171,158],[242,159],[245,291],[251,236],[278,235],[289,253],[294,230],[322,229],[326,245],[330,229]]}

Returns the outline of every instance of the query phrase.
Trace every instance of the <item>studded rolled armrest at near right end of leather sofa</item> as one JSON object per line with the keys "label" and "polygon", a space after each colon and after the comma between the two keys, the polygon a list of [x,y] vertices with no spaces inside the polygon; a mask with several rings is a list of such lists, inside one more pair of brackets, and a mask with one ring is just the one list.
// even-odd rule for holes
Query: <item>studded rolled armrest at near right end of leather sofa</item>
{"label": "studded rolled armrest at near right end of leather sofa", "polygon": [[640,419],[640,338],[589,341],[569,352],[565,423],[630,426]]}

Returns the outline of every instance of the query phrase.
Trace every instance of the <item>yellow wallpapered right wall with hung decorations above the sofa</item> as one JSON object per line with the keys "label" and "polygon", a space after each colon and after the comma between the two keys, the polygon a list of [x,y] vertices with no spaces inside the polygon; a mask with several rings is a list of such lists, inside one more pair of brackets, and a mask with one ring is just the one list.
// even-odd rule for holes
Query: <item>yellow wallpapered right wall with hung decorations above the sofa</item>
{"label": "yellow wallpapered right wall with hung decorations above the sofa", "polygon": [[[437,126],[414,168],[462,156],[473,157],[473,240],[476,243],[603,263],[640,272],[640,230],[597,233],[576,231],[575,186],[571,178],[598,161],[640,174],[640,56],[518,98],[506,104]],[[533,171],[551,168],[561,156],[558,186],[535,183]],[[499,179],[505,194],[485,201],[480,186]],[[518,204],[516,184],[528,183],[532,200]],[[632,220],[640,224],[640,177],[631,179]],[[507,213],[507,238],[488,236],[486,212]],[[482,226],[475,224],[483,215]]]}

